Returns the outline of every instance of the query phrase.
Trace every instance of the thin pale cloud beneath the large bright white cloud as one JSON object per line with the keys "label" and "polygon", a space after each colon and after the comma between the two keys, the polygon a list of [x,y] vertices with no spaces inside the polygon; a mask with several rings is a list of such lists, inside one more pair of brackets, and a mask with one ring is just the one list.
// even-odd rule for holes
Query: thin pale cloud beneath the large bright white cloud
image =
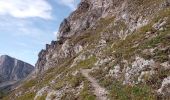
{"label": "thin pale cloud beneath the large bright white cloud", "polygon": [[[5,33],[3,33],[5,32]],[[39,36],[43,30],[34,26],[31,20],[22,20],[13,17],[0,16],[0,34],[12,34],[15,36]]]}

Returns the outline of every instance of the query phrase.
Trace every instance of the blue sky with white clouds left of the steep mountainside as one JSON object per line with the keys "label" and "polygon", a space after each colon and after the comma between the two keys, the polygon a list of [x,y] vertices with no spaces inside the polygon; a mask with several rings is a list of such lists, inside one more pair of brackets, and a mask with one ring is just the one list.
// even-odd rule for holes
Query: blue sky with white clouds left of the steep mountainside
{"label": "blue sky with white clouds left of the steep mountainside", "polygon": [[0,0],[0,55],[35,65],[80,0]]}

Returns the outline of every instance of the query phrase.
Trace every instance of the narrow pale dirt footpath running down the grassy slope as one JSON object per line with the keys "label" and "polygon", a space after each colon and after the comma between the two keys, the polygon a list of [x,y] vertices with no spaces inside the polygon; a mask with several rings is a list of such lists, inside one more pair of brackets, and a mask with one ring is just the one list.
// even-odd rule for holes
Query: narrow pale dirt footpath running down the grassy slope
{"label": "narrow pale dirt footpath running down the grassy slope", "polygon": [[81,73],[84,77],[86,77],[90,81],[92,87],[94,88],[94,94],[96,95],[97,100],[108,100],[107,99],[108,92],[105,90],[105,88],[102,88],[98,84],[98,82],[95,78],[93,78],[89,75],[90,71],[91,71],[90,69],[82,69]]}

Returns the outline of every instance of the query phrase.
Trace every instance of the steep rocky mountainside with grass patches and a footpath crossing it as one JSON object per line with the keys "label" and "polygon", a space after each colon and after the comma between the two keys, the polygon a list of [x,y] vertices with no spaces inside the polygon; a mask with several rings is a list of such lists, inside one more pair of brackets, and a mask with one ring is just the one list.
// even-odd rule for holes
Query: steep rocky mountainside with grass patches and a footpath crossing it
{"label": "steep rocky mountainside with grass patches and a footpath crossing it", "polygon": [[34,74],[4,99],[170,99],[170,0],[81,0]]}

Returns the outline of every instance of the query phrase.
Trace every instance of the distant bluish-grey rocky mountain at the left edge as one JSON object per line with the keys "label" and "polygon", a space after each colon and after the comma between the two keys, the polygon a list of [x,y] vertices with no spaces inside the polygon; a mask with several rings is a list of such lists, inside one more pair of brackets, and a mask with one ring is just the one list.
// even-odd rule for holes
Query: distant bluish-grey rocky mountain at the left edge
{"label": "distant bluish-grey rocky mountain at the left edge", "polygon": [[33,70],[32,65],[3,55],[0,57],[0,84],[6,81],[19,81],[27,77]]}

